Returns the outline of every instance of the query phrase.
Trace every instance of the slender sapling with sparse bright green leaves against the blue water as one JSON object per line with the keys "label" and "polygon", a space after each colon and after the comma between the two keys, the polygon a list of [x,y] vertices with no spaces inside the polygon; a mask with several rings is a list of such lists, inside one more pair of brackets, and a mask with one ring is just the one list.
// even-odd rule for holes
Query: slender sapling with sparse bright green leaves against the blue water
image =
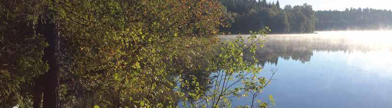
{"label": "slender sapling with sparse bright green leaves against the blue water", "polygon": [[250,95],[255,98],[262,92],[267,79],[257,77],[262,69],[257,65],[255,54],[257,45],[265,42],[264,37],[268,31],[268,27],[258,32],[250,31],[252,34],[246,39],[237,36],[234,40],[224,42],[219,48],[220,52],[212,61],[217,61],[217,69],[222,71],[213,78],[213,93],[206,96],[213,100],[214,107],[229,106],[227,99],[231,96],[241,98]]}

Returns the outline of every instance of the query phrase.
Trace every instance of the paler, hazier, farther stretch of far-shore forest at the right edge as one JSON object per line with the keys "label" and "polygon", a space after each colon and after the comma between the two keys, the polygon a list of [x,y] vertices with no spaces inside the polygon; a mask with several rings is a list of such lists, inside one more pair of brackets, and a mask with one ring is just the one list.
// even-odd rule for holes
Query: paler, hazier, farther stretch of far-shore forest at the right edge
{"label": "paler, hazier, farther stretch of far-shore forest at the right edge", "polygon": [[315,12],[316,30],[390,29],[391,10],[350,8],[345,11],[325,10]]}

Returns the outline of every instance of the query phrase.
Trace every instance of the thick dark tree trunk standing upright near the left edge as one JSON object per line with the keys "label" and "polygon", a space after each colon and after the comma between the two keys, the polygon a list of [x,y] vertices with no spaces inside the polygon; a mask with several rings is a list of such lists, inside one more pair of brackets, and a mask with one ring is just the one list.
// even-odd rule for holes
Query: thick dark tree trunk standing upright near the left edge
{"label": "thick dark tree trunk standing upright near the left edge", "polygon": [[[43,108],[59,108],[59,32],[56,23],[52,18],[44,18],[43,15],[38,21],[38,33],[43,34],[49,44],[44,50],[43,61],[49,64],[49,70],[41,75],[35,86],[43,87]],[[35,93],[34,93],[35,94]],[[38,96],[38,95],[37,95]],[[34,97],[34,105],[39,105],[38,97]]]}

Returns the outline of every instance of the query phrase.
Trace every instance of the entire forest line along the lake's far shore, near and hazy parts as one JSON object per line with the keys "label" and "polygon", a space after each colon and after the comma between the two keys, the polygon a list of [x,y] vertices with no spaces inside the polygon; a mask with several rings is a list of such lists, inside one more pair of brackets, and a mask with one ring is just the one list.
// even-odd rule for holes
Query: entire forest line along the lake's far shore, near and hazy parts
{"label": "entire forest line along the lake's far shore, near and hazy parts", "polygon": [[350,8],[345,11],[314,11],[311,5],[280,6],[279,1],[220,0],[225,6],[223,32],[249,33],[266,26],[272,33],[309,33],[315,30],[363,30],[392,28],[391,10]]}

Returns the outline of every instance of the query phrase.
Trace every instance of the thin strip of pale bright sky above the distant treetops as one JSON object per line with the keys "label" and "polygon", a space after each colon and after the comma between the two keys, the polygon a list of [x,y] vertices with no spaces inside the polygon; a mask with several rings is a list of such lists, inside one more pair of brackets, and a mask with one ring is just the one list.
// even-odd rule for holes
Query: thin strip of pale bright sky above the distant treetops
{"label": "thin strip of pale bright sky above the distant treetops", "polygon": [[[274,1],[276,0],[267,0]],[[279,0],[281,7],[284,5],[302,5],[307,3],[313,6],[313,10],[345,10],[350,7],[392,9],[392,0]]]}

